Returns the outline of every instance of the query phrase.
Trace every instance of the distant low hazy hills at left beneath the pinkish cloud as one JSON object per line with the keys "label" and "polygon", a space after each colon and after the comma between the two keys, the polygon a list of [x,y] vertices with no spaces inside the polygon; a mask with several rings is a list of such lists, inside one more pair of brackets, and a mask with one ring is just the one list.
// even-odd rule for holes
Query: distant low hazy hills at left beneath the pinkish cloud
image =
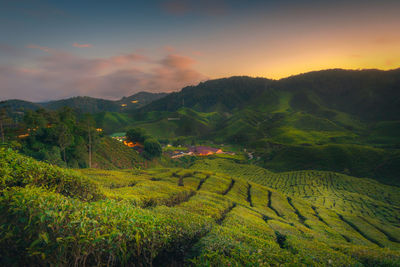
{"label": "distant low hazy hills at left beneath the pinkish cloud", "polygon": [[5,107],[12,111],[21,111],[28,109],[36,110],[39,108],[58,110],[62,107],[70,107],[81,113],[98,113],[104,111],[121,112],[143,107],[166,95],[166,93],[139,92],[129,97],[123,97],[117,101],[88,96],[71,97],[68,99],[42,103],[32,103],[23,100],[7,100],[0,102],[0,108]]}

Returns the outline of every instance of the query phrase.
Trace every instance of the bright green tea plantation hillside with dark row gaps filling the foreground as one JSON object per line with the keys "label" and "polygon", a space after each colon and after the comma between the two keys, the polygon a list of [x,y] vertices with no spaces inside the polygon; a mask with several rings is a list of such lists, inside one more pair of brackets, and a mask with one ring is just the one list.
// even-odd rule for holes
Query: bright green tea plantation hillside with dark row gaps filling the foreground
{"label": "bright green tea plantation hillside with dark row gaps filling the foreground", "polygon": [[0,172],[2,265],[400,264],[397,188],[371,180],[214,160],[77,172],[4,149]]}

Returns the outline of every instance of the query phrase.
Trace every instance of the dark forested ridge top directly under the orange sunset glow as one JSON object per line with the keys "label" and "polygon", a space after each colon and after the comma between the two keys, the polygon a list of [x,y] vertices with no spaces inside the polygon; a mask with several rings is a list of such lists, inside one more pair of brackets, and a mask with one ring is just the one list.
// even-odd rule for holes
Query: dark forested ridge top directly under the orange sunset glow
{"label": "dark forested ridge top directly under the orange sunset glow", "polygon": [[324,117],[345,112],[367,120],[397,120],[400,114],[400,69],[309,72],[281,80],[231,77],[183,88],[141,109],[227,111],[265,110],[289,97],[290,108]]}

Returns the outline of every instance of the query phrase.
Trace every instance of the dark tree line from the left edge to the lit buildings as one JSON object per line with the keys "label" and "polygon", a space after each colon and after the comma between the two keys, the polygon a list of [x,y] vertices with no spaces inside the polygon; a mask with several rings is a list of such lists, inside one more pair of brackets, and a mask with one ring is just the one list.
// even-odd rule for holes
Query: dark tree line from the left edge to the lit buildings
{"label": "dark tree line from the left edge to the lit buildings", "polygon": [[102,134],[92,115],[64,107],[26,110],[18,123],[14,120],[5,109],[0,111],[2,143],[12,143],[26,155],[59,166],[92,166],[92,154]]}

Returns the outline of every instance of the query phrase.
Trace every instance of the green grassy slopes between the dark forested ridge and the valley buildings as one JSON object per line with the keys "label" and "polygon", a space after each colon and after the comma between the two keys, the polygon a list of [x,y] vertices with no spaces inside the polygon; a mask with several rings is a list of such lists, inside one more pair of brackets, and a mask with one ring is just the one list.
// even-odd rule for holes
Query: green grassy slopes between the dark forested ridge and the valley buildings
{"label": "green grassy slopes between the dark forested ridge and the valley buildings", "polygon": [[[185,108],[135,126],[158,138],[196,136],[238,143],[256,151],[263,166],[274,171],[327,170],[400,185],[399,151],[383,147],[395,147],[398,142],[397,122],[368,126],[339,112],[328,119],[303,111],[282,111],[289,97],[282,98],[283,103],[269,113],[247,108],[224,117]],[[181,120],[168,121],[167,117]]]}

